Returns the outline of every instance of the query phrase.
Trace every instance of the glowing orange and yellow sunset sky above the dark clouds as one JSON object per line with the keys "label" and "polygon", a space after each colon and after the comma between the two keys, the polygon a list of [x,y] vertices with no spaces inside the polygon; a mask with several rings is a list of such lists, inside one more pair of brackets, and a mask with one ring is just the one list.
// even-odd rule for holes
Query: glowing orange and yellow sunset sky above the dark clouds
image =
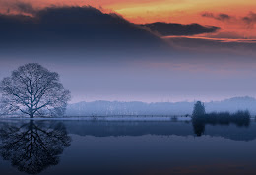
{"label": "glowing orange and yellow sunset sky above the dark clouds", "polygon": [[[1,0],[2,12],[17,12],[21,3],[32,8],[91,5],[122,15],[132,23],[199,23],[218,26],[220,37],[256,38],[255,0]],[[18,4],[18,5],[17,5]],[[29,10],[29,9],[27,9]],[[207,16],[204,14],[208,14]]]}

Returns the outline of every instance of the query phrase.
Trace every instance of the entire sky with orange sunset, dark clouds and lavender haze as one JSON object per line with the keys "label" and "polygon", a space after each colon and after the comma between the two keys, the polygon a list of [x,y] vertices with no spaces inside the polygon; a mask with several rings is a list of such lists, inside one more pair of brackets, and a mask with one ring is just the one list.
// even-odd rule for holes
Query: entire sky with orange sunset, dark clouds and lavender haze
{"label": "entire sky with orange sunset, dark clouds and lavender haze", "polygon": [[60,74],[71,102],[256,97],[255,5],[0,0],[0,78],[37,62]]}

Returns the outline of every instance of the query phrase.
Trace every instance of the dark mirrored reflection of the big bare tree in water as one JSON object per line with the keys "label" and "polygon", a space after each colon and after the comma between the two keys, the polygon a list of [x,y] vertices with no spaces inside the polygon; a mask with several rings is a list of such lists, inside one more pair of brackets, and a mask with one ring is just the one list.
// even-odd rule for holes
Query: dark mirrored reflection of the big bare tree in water
{"label": "dark mirrored reflection of the big bare tree in water", "polygon": [[0,140],[2,157],[29,174],[57,165],[59,155],[71,143],[62,123],[33,120],[20,126],[4,124],[0,129]]}

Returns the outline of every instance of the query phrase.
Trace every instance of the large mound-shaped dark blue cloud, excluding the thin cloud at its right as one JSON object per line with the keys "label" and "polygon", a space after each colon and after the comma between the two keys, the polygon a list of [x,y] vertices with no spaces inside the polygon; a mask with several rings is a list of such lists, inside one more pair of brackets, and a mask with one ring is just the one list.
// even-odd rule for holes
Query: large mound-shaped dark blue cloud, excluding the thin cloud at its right
{"label": "large mound-shaped dark blue cloud, excluding the thin cloud at its right", "polygon": [[[21,7],[20,7],[21,8]],[[116,14],[93,7],[46,8],[32,16],[0,15],[0,44],[20,47],[119,49],[136,52],[149,48],[163,51],[169,45],[154,33],[131,24]]]}

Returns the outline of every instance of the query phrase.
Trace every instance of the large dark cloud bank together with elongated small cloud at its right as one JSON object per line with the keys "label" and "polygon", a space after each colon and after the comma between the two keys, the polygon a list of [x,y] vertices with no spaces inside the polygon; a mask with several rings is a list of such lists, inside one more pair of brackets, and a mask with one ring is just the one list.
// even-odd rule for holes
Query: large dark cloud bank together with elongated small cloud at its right
{"label": "large dark cloud bank together with elongated small cloud at its right", "polygon": [[[17,3],[15,9],[27,15],[0,15],[0,51],[68,52],[87,55],[166,56],[175,47],[162,35],[193,35],[214,32],[218,27],[198,24],[132,24],[116,14],[104,14],[86,7],[50,7],[35,10],[30,4]],[[98,52],[100,51],[100,53]],[[100,54],[100,55],[99,55]]]}

